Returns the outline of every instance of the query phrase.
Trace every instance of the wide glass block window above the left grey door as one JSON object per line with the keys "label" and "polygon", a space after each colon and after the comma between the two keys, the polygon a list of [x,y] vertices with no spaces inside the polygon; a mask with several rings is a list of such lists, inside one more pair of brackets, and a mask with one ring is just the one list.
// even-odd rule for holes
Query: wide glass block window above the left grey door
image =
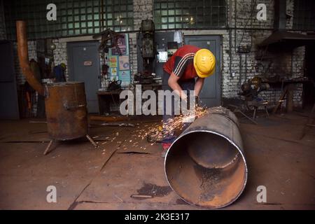
{"label": "wide glass block window above the left grey door", "polygon": [[[57,6],[57,20],[48,21],[48,3]],[[3,2],[8,38],[16,39],[15,21],[27,22],[29,39],[98,34],[109,28],[132,31],[132,0],[10,0]]]}

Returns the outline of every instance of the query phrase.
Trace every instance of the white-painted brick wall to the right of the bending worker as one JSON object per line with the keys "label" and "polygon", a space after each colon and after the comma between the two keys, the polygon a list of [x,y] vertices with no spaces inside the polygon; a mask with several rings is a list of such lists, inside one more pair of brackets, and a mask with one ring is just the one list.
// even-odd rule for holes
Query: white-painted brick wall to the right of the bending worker
{"label": "white-painted brick wall to the right of the bending worker", "polygon": [[[274,25],[274,1],[272,0],[261,0],[257,3],[265,3],[267,6],[267,20],[259,21],[256,19],[256,12],[254,10],[253,16],[248,20],[251,15],[251,2],[248,0],[238,0],[235,8],[235,0],[232,0],[232,4],[228,7],[228,13],[231,13],[231,21],[229,22],[230,27],[238,28],[255,28],[255,29],[272,29]],[[253,1],[254,2],[254,1]],[[287,0],[287,13],[293,15],[293,0]],[[287,20],[286,29],[291,29],[293,26],[293,18]],[[232,30],[230,41],[229,35],[223,35],[223,64],[221,71],[222,80],[222,97],[233,98],[237,97],[239,87],[241,83],[244,83],[245,79],[252,78],[255,75],[262,75],[262,72],[257,68],[258,64],[262,64],[267,68],[270,60],[260,61],[255,56],[258,55],[257,45],[262,40],[267,38],[272,31],[268,30]],[[231,69],[230,69],[230,43],[231,43]],[[251,45],[251,52],[247,54],[239,54],[237,47],[239,45]],[[270,54],[269,54],[270,56]],[[245,64],[245,57],[247,57],[247,63]],[[242,64],[240,65],[240,59]],[[274,55],[271,59],[272,64],[269,69],[269,75],[273,76],[279,73],[288,74],[288,78],[297,78],[303,76],[302,65],[304,63],[304,47],[296,48],[293,50],[291,57],[290,52],[279,52]],[[292,63],[292,66],[291,66]],[[290,74],[292,68],[292,75]],[[231,70],[231,71],[230,71]],[[246,74],[245,74],[245,71]],[[234,76],[232,76],[234,74]],[[281,95],[279,90],[269,90],[262,92],[261,97],[264,97],[271,103],[275,103]],[[302,86],[299,85],[294,91],[294,104],[295,106],[302,105]]]}

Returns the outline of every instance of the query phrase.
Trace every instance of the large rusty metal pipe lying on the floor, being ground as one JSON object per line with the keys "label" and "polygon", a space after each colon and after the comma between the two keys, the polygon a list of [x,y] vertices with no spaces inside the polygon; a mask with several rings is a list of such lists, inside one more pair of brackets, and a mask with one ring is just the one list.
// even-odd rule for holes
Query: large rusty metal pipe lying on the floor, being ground
{"label": "large rusty metal pipe lying on the floor, being ground", "polygon": [[221,106],[197,118],[165,156],[165,174],[174,192],[198,207],[217,209],[235,202],[247,181],[239,124]]}

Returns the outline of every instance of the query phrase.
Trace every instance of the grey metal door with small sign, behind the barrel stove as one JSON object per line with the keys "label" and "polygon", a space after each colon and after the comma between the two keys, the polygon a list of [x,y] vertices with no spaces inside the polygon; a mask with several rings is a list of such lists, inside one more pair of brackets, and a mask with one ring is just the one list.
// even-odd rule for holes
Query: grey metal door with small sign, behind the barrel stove
{"label": "grey metal door with small sign, behind the barrel stove", "polygon": [[85,83],[87,111],[98,113],[97,90],[99,89],[99,41],[67,43],[69,80]]}

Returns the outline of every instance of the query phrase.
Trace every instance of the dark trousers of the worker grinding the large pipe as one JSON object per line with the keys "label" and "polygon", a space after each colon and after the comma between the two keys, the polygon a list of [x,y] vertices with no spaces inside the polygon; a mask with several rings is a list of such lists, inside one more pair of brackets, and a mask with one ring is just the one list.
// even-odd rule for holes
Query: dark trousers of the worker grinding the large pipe
{"label": "dark trousers of the worker grinding the large pipe", "polygon": [[[169,90],[173,91],[171,87],[169,87],[168,80],[169,80],[169,73],[164,71],[162,76],[162,89],[163,90]],[[179,80],[179,85],[181,86],[182,90],[187,91],[187,97],[189,99],[190,92],[189,90],[195,90],[195,78],[192,78],[190,80]],[[172,120],[174,118],[174,99],[172,97],[172,114],[167,115],[166,114],[166,97],[164,97],[164,111],[163,111],[163,134],[164,139],[162,140],[162,143],[172,143],[176,139],[176,135],[174,134],[174,130],[169,130],[169,120]],[[189,123],[183,124],[183,128],[186,128],[190,125]],[[165,129],[167,127],[167,129]]]}

